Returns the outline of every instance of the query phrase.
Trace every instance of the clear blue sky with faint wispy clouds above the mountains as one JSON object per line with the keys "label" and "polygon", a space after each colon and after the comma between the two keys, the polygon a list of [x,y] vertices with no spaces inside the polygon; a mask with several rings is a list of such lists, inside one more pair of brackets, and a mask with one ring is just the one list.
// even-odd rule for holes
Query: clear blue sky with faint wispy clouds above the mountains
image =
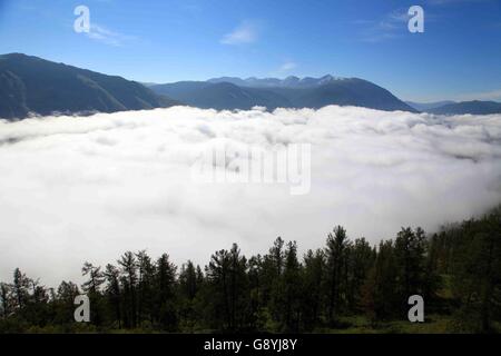
{"label": "clear blue sky with faint wispy clouds above the mountains", "polygon": [[[73,9],[90,10],[90,33]],[[424,33],[406,14],[422,6]],[[0,53],[138,81],[360,77],[402,99],[501,101],[501,0],[0,0]]]}

